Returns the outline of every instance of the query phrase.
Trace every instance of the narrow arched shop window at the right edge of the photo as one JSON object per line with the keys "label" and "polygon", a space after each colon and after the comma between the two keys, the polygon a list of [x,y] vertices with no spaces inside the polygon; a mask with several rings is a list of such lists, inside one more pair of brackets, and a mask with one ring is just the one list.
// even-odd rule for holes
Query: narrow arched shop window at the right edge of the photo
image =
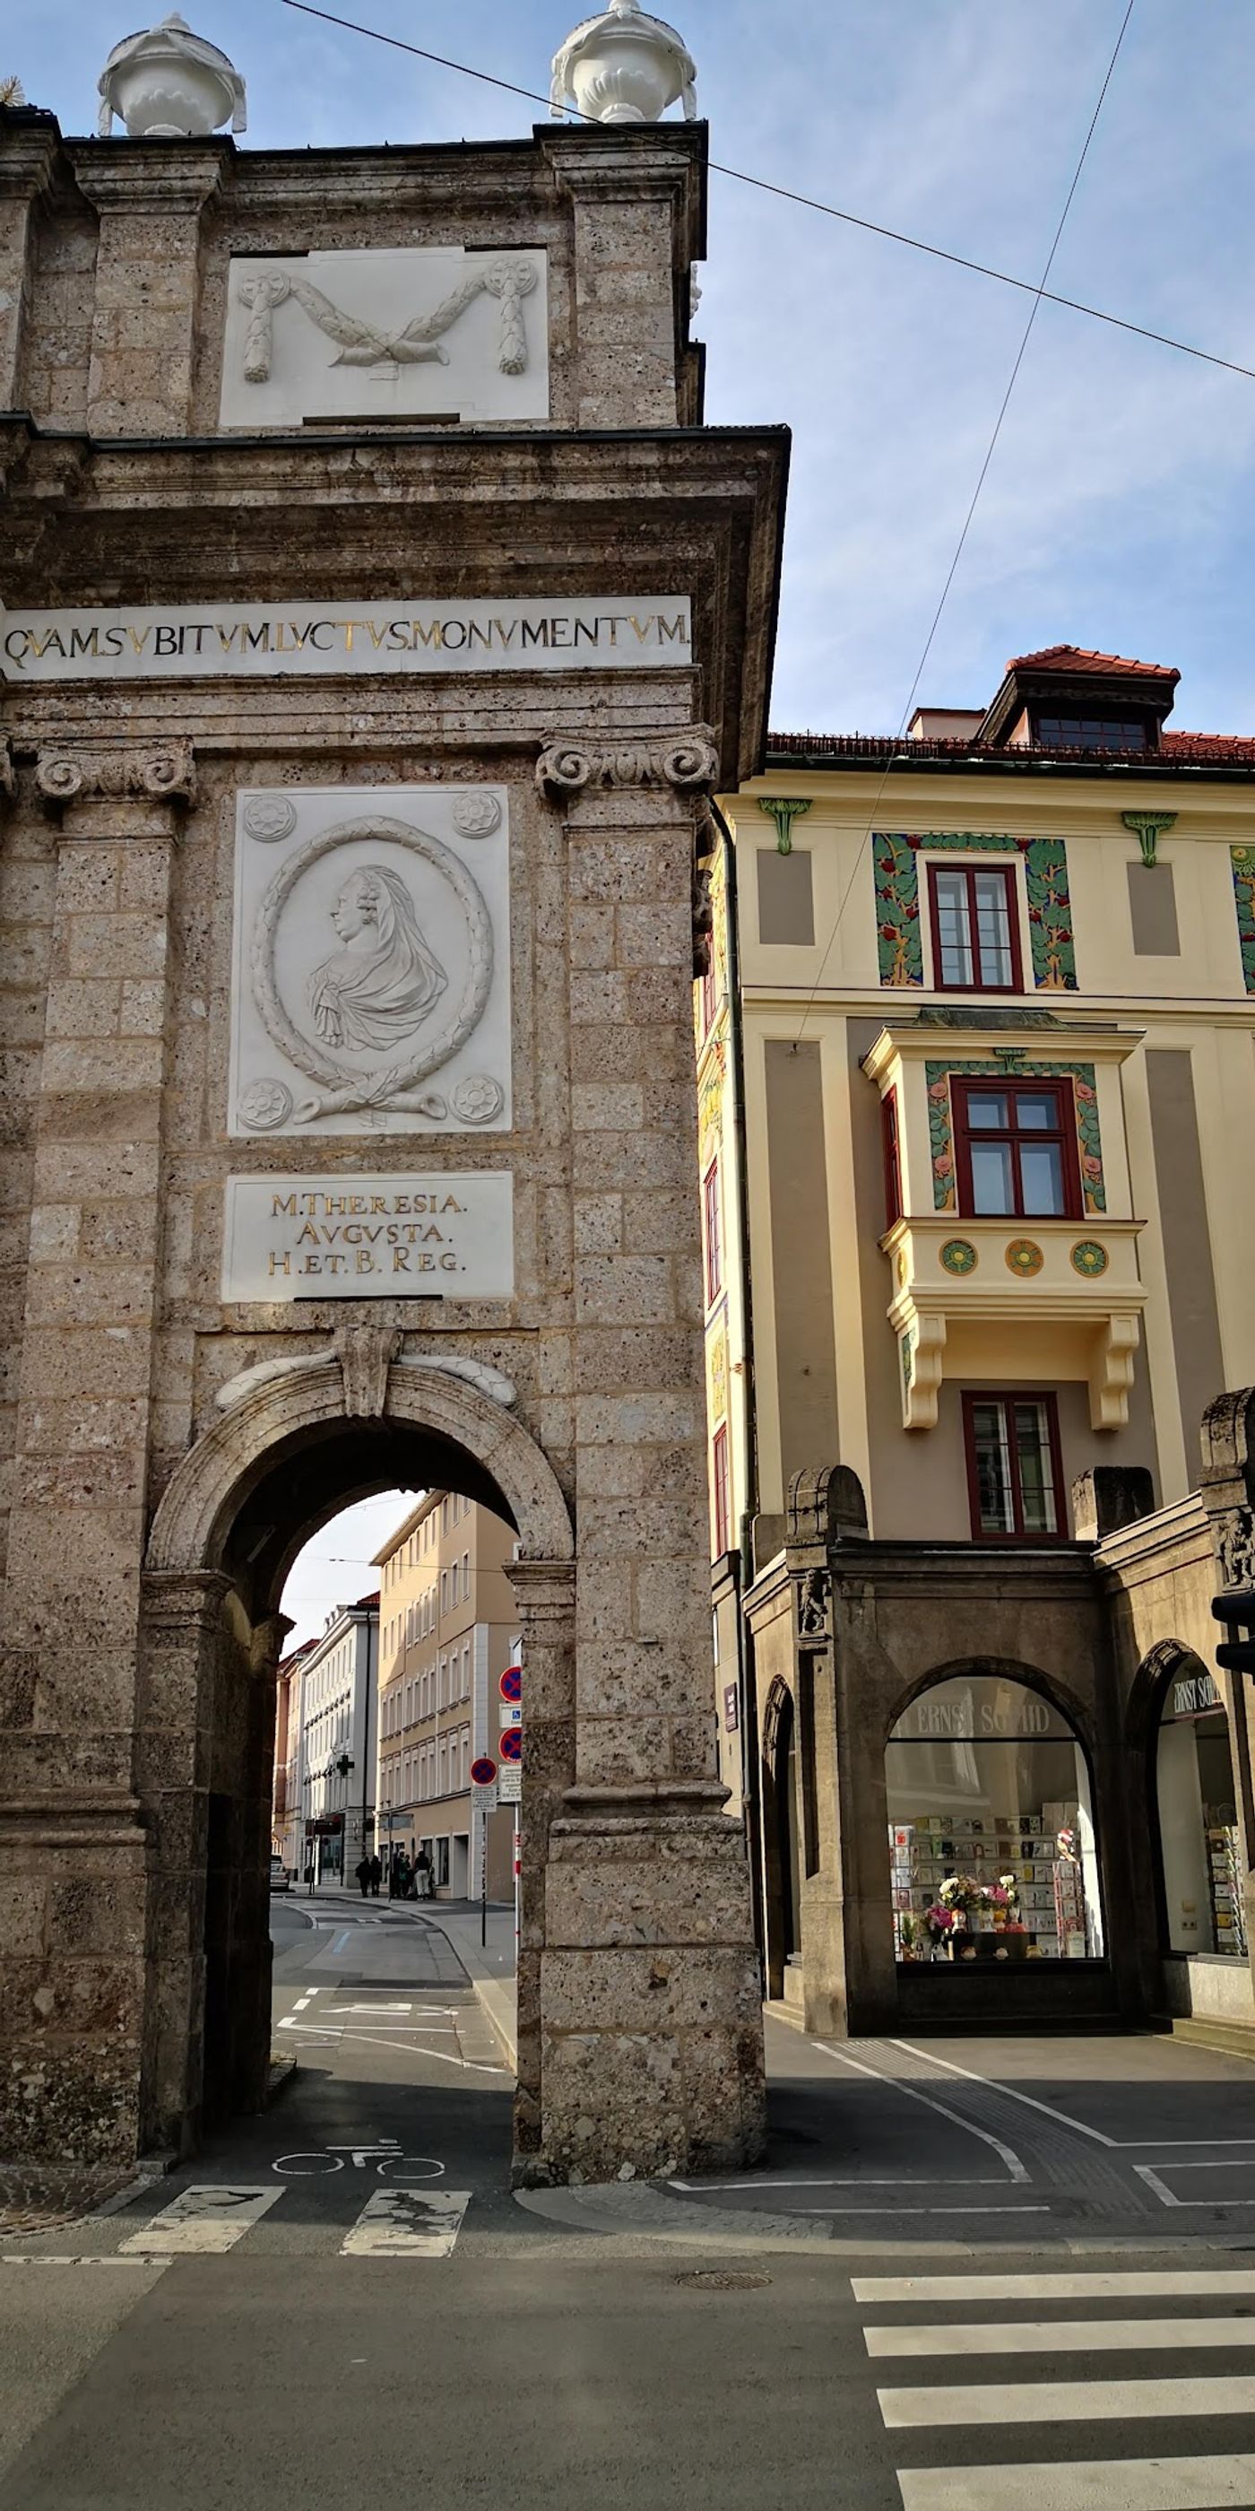
{"label": "narrow arched shop window at the right edge of the photo", "polygon": [[1167,1949],[1245,1956],[1230,1723],[1200,1657],[1165,1687],[1155,1750]]}

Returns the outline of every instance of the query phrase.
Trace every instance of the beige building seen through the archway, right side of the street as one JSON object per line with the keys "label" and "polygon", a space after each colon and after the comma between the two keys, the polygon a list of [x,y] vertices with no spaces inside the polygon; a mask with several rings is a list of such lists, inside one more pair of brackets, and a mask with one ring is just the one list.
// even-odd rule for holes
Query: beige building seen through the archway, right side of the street
{"label": "beige building seen through the archway, right side of the street", "polygon": [[[472,1760],[499,1758],[499,1677],[517,1660],[515,1532],[459,1492],[424,1492],[379,1569],[379,1848],[427,1848],[437,1898],[477,1898],[484,1815]],[[489,1901],[515,1898],[515,1808],[487,1815]]]}

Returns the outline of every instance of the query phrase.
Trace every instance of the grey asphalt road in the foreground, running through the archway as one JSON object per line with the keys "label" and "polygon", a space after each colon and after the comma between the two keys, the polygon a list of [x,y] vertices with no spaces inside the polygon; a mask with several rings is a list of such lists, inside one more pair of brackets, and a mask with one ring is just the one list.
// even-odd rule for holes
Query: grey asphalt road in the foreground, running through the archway
{"label": "grey asphalt road in the foreground, running through the archway", "polygon": [[[750,2187],[545,2215],[507,2195],[510,2082],[447,1938],[274,1911],[274,2109],[0,2245],[0,2511],[1255,2506],[1237,2059],[788,2034]],[[1072,2152],[1109,2175],[1079,2220]],[[1215,2222],[1225,2159],[1250,2200]]]}

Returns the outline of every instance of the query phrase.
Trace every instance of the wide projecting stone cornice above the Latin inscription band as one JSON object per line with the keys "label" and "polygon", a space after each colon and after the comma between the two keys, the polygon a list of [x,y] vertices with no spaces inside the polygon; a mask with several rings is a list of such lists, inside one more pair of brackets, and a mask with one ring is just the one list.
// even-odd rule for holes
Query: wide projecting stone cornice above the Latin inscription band
{"label": "wide projecting stone cornice above the Latin inscription band", "polygon": [[[434,600],[467,583],[484,595],[552,593],[557,580],[615,600],[688,593],[723,776],[756,768],[786,429],[371,429],[359,439],[309,429],[93,444],[15,419],[10,437],[20,447],[0,580],[10,608],[45,608],[50,588],[65,598],[68,585],[78,605],[148,600],[153,583],[171,603],[211,600],[223,535],[241,600],[309,600],[319,588],[404,600],[404,550],[417,540]],[[0,419],[0,467],[5,442]],[[510,550],[525,555],[507,570]],[[730,620],[745,623],[740,645]],[[628,680],[617,686],[628,696]],[[640,673],[633,688],[645,713]]]}

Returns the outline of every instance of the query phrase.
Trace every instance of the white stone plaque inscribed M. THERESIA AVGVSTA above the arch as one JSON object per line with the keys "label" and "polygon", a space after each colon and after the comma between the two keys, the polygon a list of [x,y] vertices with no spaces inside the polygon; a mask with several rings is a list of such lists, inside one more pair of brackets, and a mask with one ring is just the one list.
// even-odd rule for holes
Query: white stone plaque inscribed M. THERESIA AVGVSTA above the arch
{"label": "white stone plaque inscribed M. THERESIA AVGVSTA above the arch", "polygon": [[510,1298],[507,1170],[228,1178],[223,1301]]}

